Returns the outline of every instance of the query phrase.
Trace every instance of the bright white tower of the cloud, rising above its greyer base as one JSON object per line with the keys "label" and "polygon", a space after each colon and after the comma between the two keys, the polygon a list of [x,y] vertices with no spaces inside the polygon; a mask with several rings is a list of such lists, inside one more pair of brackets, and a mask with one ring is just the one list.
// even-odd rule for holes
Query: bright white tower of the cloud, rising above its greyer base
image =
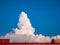
{"label": "bright white tower of the cloud, rising above its greyer base", "polygon": [[29,18],[25,12],[21,12],[18,22],[18,28],[15,29],[15,34],[33,35],[34,28],[32,27]]}

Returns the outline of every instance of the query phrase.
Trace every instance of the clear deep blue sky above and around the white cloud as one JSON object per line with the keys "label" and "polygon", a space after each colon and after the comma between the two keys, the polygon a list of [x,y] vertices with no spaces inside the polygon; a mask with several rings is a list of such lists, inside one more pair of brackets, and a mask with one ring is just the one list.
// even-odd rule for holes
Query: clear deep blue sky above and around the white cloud
{"label": "clear deep blue sky above and around the white cloud", "polygon": [[35,34],[60,35],[60,0],[0,0],[0,36],[17,27],[21,11],[35,28]]}

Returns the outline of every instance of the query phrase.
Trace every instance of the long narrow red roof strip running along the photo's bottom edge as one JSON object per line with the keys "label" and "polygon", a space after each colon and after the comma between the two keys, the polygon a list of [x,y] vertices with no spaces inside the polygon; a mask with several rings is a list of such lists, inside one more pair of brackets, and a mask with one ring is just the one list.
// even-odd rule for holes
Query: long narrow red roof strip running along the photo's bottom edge
{"label": "long narrow red roof strip running along the photo's bottom edge", "polygon": [[0,45],[60,45],[59,43],[3,43]]}

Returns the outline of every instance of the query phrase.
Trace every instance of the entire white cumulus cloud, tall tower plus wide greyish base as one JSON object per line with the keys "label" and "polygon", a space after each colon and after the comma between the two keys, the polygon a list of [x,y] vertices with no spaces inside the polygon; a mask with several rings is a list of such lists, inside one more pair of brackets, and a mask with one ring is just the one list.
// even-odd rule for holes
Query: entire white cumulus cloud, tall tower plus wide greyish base
{"label": "entire white cumulus cloud, tall tower plus wide greyish base", "polygon": [[35,35],[35,28],[32,27],[29,18],[25,12],[21,12],[19,15],[18,28],[13,29],[13,32],[7,33],[1,38],[8,38],[10,42],[38,42],[38,43],[50,43],[52,39],[60,39],[60,36],[44,36],[42,34]]}

